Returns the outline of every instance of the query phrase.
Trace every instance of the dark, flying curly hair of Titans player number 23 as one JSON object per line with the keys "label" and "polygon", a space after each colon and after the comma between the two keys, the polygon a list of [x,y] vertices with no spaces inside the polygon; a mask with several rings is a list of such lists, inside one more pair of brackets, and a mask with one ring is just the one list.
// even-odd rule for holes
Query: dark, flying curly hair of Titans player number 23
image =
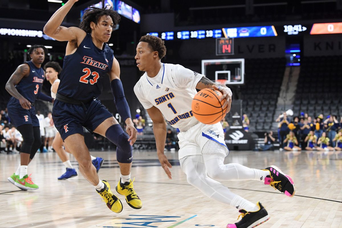
{"label": "dark, flying curly hair of Titans player number 23", "polygon": [[90,22],[94,22],[97,25],[98,20],[103,15],[108,15],[111,17],[114,24],[113,28],[115,28],[116,25],[119,24],[121,17],[111,7],[107,7],[108,5],[105,6],[104,4],[104,0],[102,0],[102,9],[90,7],[89,9],[84,11],[79,28],[87,33],[91,33]]}

